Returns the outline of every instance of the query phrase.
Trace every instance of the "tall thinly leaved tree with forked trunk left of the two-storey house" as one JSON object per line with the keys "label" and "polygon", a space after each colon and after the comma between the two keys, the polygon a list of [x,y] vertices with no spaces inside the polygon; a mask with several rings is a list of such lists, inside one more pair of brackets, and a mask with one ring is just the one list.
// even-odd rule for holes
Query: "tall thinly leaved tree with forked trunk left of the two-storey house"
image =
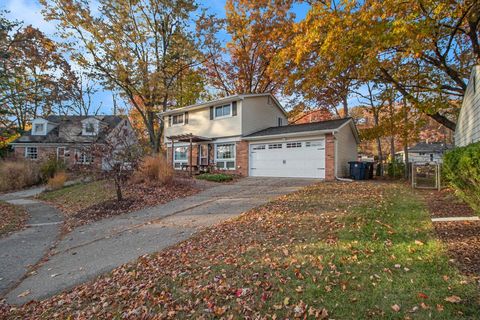
{"label": "tall thinly leaved tree with forked trunk left of the two-storey house", "polygon": [[72,59],[127,99],[158,151],[164,124],[157,114],[178,104],[179,76],[204,59],[189,30],[194,0],[100,0],[96,12],[81,0],[41,3],[45,17],[59,22]]}

